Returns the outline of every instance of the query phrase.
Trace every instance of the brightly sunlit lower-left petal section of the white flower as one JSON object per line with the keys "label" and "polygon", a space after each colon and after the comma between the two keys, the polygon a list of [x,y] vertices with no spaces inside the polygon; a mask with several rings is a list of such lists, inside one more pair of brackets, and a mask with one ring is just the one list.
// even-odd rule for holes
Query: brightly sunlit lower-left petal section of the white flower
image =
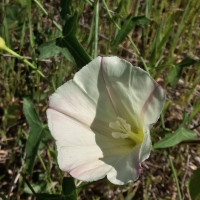
{"label": "brightly sunlit lower-left petal section of the white flower", "polygon": [[[94,133],[58,111],[48,109],[47,116],[49,129],[56,140],[59,167],[79,180],[94,181],[105,177],[115,168],[116,159],[121,159],[134,147],[130,140],[109,139]],[[116,159],[110,162],[113,158]]]}

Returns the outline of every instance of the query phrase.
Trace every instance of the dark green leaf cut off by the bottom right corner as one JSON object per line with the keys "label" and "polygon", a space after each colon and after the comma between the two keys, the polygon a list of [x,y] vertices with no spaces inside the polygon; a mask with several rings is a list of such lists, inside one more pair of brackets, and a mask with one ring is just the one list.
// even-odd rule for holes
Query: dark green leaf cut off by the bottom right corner
{"label": "dark green leaf cut off by the bottom right corner", "polygon": [[192,199],[200,199],[200,168],[194,171],[189,183],[189,190]]}

